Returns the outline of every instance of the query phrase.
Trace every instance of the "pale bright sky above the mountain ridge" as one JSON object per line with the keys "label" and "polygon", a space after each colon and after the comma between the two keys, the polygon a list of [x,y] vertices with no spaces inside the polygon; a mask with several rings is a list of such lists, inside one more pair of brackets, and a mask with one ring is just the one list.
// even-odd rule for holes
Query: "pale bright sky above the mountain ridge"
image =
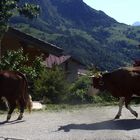
{"label": "pale bright sky above the mountain ridge", "polygon": [[83,0],[96,10],[102,10],[120,23],[132,25],[140,21],[140,0]]}

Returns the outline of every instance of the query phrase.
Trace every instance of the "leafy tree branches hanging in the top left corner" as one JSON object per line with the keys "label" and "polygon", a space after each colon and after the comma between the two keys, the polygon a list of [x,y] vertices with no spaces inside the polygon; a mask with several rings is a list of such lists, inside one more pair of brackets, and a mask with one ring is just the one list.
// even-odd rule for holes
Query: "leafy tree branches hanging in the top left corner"
{"label": "leafy tree branches hanging in the top left corner", "polygon": [[39,6],[29,3],[21,5],[20,0],[0,0],[0,36],[3,35],[9,19],[15,12],[32,19],[38,15]]}

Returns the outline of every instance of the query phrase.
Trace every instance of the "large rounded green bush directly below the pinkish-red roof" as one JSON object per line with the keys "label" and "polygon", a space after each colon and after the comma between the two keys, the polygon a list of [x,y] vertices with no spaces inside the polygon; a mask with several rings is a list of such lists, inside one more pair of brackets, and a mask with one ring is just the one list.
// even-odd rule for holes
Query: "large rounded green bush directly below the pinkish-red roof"
{"label": "large rounded green bush directly below the pinkish-red roof", "polygon": [[34,93],[40,99],[44,97],[46,103],[64,101],[67,98],[67,82],[64,78],[64,72],[57,66],[42,71],[41,77],[35,81]]}

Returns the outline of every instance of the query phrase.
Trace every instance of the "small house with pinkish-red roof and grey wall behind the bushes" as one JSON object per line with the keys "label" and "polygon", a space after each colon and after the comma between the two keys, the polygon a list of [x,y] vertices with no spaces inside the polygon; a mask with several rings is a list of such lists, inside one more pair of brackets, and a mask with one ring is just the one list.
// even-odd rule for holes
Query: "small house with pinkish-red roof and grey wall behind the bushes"
{"label": "small house with pinkish-red roof and grey wall behind the bushes", "polygon": [[70,55],[62,55],[60,57],[50,54],[46,57],[44,64],[47,68],[52,68],[54,65],[60,66],[66,73],[66,79],[69,82],[74,82],[80,71],[84,71],[86,66],[73,58]]}

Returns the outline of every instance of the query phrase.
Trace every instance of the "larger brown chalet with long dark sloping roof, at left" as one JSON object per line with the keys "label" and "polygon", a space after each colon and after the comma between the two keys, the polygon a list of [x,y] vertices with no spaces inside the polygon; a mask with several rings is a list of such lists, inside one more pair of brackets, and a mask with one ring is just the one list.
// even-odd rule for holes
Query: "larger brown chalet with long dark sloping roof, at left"
{"label": "larger brown chalet with long dark sloping roof, at left", "polygon": [[25,54],[28,54],[31,63],[36,56],[40,56],[41,54],[46,58],[49,54],[61,56],[63,53],[61,48],[53,44],[44,42],[31,35],[9,27],[1,41],[1,55],[7,50],[18,50],[20,48],[23,49]]}

